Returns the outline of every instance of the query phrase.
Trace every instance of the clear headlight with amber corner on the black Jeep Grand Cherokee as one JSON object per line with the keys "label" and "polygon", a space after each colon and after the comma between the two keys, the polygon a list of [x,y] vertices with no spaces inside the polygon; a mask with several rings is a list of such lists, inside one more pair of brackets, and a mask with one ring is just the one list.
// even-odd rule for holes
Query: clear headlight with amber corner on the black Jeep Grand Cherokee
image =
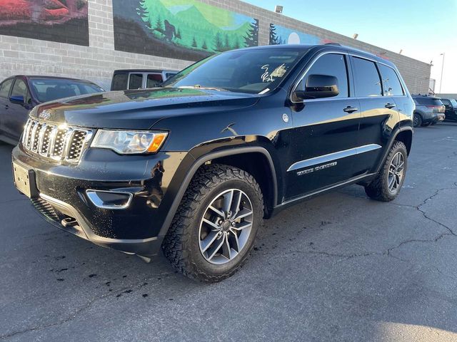
{"label": "clear headlight with amber corner on the black Jeep Grand Cherokee", "polygon": [[109,148],[121,154],[154,153],[167,135],[149,130],[98,130],[91,147]]}

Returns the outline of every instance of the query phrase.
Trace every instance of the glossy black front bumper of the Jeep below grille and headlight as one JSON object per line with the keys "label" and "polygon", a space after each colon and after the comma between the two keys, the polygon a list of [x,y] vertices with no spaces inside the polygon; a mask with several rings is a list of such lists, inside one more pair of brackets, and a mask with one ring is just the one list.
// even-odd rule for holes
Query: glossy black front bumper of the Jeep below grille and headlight
{"label": "glossy black front bumper of the Jeep below grille and headlight", "polygon": [[[75,166],[42,160],[20,145],[12,152],[13,162],[32,170],[37,195],[31,202],[46,221],[94,244],[144,257],[159,253],[159,232],[175,184],[181,184],[178,169],[189,159],[186,152],[126,156],[89,149]],[[131,199],[126,207],[98,207],[87,190],[121,191]]]}

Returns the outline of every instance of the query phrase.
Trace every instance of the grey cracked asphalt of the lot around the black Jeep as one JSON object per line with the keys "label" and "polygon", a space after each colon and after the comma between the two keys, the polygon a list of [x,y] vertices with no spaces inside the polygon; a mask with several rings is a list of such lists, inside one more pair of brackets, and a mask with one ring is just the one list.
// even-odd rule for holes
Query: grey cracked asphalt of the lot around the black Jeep
{"label": "grey cracked asphalt of the lot around the black Jeep", "polygon": [[457,341],[457,124],[416,130],[401,195],[291,207],[220,284],[51,227],[0,145],[0,341]]}

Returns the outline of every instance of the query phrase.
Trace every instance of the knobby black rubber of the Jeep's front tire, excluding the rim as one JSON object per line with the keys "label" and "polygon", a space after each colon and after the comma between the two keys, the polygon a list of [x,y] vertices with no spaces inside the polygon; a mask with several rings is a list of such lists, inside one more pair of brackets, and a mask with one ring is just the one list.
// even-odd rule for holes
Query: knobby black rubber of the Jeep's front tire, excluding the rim
{"label": "knobby black rubber of the Jeep's front tire, excluding the rim", "polygon": [[[201,219],[224,190],[243,191],[252,204],[252,227],[246,245],[225,264],[211,264],[199,247]],[[246,262],[263,222],[263,196],[254,177],[229,165],[201,167],[191,180],[164,238],[162,249],[176,270],[191,279],[213,283],[232,276]]]}

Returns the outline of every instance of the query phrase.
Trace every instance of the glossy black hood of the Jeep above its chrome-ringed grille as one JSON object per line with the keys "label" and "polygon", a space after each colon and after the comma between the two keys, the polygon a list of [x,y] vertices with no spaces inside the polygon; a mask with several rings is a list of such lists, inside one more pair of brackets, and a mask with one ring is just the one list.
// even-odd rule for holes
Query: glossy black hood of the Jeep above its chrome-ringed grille
{"label": "glossy black hood of the Jeep above its chrome-ringed grille", "polygon": [[163,118],[246,108],[258,98],[252,94],[188,88],[123,90],[42,103],[30,115],[86,128],[147,130]]}

